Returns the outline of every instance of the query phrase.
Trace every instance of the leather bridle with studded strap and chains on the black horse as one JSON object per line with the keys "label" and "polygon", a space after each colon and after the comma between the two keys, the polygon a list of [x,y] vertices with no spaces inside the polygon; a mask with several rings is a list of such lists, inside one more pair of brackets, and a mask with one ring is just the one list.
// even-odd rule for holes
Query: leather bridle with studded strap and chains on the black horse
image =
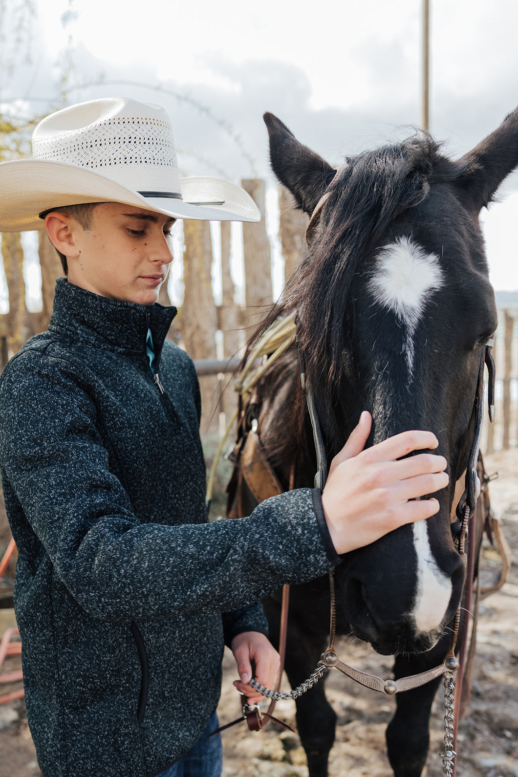
{"label": "leather bridle with studded strap and chains on the black horse", "polygon": [[[298,338],[297,338],[298,340]],[[485,343],[482,343],[483,351],[481,353],[481,359],[478,367],[478,380],[477,389],[475,393],[475,402],[471,418],[475,416],[475,428],[473,434],[473,440],[471,442],[471,448],[468,456],[468,465],[465,476],[465,488],[461,499],[456,507],[456,515],[458,521],[460,521],[460,529],[457,534],[457,550],[463,559],[464,565],[468,566],[468,556],[464,552],[464,545],[466,538],[468,537],[468,524],[470,518],[475,514],[475,507],[478,499],[478,495],[481,490],[480,479],[477,474],[477,459],[478,449],[480,447],[483,409],[484,409],[484,367],[488,368],[488,415],[489,420],[492,421],[495,414],[495,363],[492,357],[492,347],[494,345],[494,339],[488,338]],[[325,486],[325,480],[327,478],[327,458],[325,455],[324,441],[322,437],[322,428],[318,420],[318,412],[315,406],[315,397],[311,391],[311,386],[308,384],[307,375],[305,373],[304,357],[299,347],[299,354],[301,356],[301,385],[304,391],[306,402],[308,405],[308,413],[311,420],[311,429],[313,432],[313,439],[315,443],[315,452],[317,458],[317,472],[315,475],[315,488],[323,489]],[[452,528],[453,529],[453,528]],[[470,543],[471,551],[473,551],[474,543]],[[470,563],[470,567],[473,564]],[[466,580],[466,586],[471,591],[473,584],[472,579]],[[329,573],[329,585],[331,593],[331,615],[330,615],[330,636],[329,644],[322,653],[321,659],[318,662],[315,672],[304,681],[297,688],[294,688],[290,693],[280,693],[278,691],[271,691],[265,686],[260,685],[255,680],[250,681],[252,688],[260,692],[262,695],[272,699],[274,702],[279,699],[297,699],[298,696],[308,691],[322,676],[331,668],[338,669],[347,677],[353,679],[360,685],[364,685],[367,688],[372,688],[375,691],[385,693],[388,695],[394,695],[395,693],[408,691],[412,688],[419,688],[421,685],[425,685],[429,681],[444,676],[445,683],[445,735],[444,742],[445,748],[441,754],[444,765],[445,777],[454,777],[455,773],[455,758],[456,753],[454,751],[454,740],[456,738],[456,726],[454,718],[454,673],[457,672],[461,664],[455,656],[455,648],[457,646],[457,636],[459,632],[459,625],[461,622],[461,603],[457,608],[454,619],[454,628],[450,637],[450,644],[447,650],[447,654],[444,657],[442,664],[433,669],[429,669],[420,674],[415,674],[410,677],[399,678],[398,680],[384,680],[383,678],[376,677],[373,674],[367,674],[366,672],[350,667],[349,664],[345,664],[339,659],[338,653],[335,650],[335,572],[332,570]],[[460,673],[462,677],[462,672]],[[271,711],[271,708],[270,708]]]}

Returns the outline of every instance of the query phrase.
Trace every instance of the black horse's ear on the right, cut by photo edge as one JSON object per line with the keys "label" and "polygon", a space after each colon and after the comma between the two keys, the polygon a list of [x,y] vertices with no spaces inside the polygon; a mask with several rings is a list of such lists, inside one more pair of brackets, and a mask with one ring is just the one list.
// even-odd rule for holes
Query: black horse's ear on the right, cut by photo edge
{"label": "black horse's ear on the right, cut by photo edge", "polygon": [[518,108],[458,162],[461,199],[478,213],[488,205],[503,179],[518,166]]}

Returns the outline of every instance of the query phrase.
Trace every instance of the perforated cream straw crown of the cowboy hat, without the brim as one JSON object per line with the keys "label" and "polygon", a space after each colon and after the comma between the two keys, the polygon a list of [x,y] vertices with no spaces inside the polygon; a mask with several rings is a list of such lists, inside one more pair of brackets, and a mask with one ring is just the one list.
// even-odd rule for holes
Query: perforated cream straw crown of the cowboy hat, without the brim
{"label": "perforated cream straw crown of the cowboy hat, without the brim", "polygon": [[34,130],[33,159],[92,169],[134,191],[180,193],[169,117],[153,103],[106,97],[57,111]]}

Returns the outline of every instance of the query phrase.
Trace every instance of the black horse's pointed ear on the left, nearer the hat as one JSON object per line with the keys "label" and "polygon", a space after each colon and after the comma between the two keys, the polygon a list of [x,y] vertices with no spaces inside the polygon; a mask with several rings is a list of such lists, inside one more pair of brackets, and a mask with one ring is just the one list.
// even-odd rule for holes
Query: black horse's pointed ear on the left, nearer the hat
{"label": "black horse's pointed ear on the left, nearer the hat", "polygon": [[273,113],[265,113],[262,118],[268,128],[273,172],[294,195],[299,207],[311,216],[336,171],[321,156],[299,143]]}

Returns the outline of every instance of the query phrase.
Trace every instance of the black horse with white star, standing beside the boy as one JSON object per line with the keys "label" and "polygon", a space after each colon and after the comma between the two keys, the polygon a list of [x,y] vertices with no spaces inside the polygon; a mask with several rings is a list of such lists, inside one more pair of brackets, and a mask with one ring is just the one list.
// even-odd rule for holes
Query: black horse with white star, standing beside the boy
{"label": "black horse with white star, standing beside the boy", "polygon": [[[436,434],[450,475],[436,494],[440,512],[349,553],[338,570],[338,632],[394,653],[395,678],[417,674],[442,662],[464,584],[450,513],[475,434],[481,354],[497,323],[478,214],[518,165],[518,109],[457,161],[419,136],[339,169],[271,113],[264,118],[273,171],[311,221],[304,260],[252,338],[296,310],[297,345],[256,386],[241,433],[255,417],[283,489],[313,485],[302,356],[329,461],[363,409],[374,420],[368,444],[408,429]],[[248,512],[255,500],[239,482]],[[275,641],[280,597],[264,606]],[[315,669],[328,632],[328,580],[295,587],[286,658],[292,687]],[[397,696],[387,730],[397,777],[422,772],[439,682]],[[311,777],[324,777],[335,713],[322,682],[297,699],[297,726]]]}

